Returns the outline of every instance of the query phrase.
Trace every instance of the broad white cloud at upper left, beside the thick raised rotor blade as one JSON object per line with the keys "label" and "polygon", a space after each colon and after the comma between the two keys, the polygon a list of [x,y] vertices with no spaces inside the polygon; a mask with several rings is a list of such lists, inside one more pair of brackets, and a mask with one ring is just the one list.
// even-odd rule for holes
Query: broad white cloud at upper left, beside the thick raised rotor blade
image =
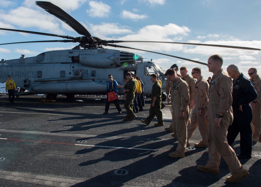
{"label": "broad white cloud at upper left, beside the thick raised rotor blade", "polygon": [[23,28],[38,27],[40,30],[63,33],[59,29],[59,24],[56,22],[54,16],[42,14],[39,11],[26,7],[13,9],[8,14],[0,14],[0,19]]}

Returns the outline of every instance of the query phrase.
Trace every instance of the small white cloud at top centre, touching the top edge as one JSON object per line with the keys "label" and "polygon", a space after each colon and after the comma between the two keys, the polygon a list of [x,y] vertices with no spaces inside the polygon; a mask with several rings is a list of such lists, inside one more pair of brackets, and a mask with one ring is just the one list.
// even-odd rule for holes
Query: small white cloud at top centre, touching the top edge
{"label": "small white cloud at top centre, touching the top edge", "polygon": [[103,2],[90,1],[90,10],[86,10],[91,17],[108,17],[111,7]]}

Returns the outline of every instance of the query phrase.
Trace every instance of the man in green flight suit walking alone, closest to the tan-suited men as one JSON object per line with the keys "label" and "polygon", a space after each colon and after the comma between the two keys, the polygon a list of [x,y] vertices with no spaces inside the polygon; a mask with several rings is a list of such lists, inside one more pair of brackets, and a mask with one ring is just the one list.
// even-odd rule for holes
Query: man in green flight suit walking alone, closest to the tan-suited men
{"label": "man in green flight suit walking alone, closest to the tan-suited men", "polygon": [[151,105],[149,116],[145,120],[141,120],[145,125],[149,125],[155,115],[157,116],[157,123],[155,126],[163,126],[163,117],[161,112],[161,85],[157,80],[156,73],[150,75],[151,81],[154,83],[151,91]]}

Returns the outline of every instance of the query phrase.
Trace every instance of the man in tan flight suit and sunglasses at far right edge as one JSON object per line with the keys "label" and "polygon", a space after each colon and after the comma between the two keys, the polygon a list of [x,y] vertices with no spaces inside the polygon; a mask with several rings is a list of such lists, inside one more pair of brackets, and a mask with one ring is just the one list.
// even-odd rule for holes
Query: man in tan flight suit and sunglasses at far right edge
{"label": "man in tan flight suit and sunglasses at far right edge", "polygon": [[252,141],[257,142],[258,141],[258,135],[261,132],[261,79],[259,75],[257,74],[256,68],[250,68],[248,70],[248,75],[250,77],[250,81],[252,82],[254,88],[257,91],[257,98],[250,103],[252,107],[253,112],[253,119],[251,122],[252,127]]}

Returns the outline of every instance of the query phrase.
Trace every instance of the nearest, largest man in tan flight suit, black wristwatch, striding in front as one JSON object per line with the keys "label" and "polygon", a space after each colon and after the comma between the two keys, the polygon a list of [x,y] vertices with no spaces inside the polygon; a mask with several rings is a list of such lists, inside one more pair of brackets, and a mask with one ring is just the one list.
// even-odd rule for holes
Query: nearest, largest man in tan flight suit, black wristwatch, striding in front
{"label": "nearest, largest man in tan flight suit, black wristwatch, striding in front", "polygon": [[210,82],[208,97],[209,109],[205,118],[209,122],[208,145],[209,160],[205,166],[198,166],[201,172],[219,173],[221,156],[226,161],[232,176],[227,177],[227,182],[236,183],[246,178],[249,173],[241,165],[235,151],[228,145],[227,129],[232,124],[232,80],[221,68],[223,58],[212,55],[207,61],[209,72],[213,73]]}

